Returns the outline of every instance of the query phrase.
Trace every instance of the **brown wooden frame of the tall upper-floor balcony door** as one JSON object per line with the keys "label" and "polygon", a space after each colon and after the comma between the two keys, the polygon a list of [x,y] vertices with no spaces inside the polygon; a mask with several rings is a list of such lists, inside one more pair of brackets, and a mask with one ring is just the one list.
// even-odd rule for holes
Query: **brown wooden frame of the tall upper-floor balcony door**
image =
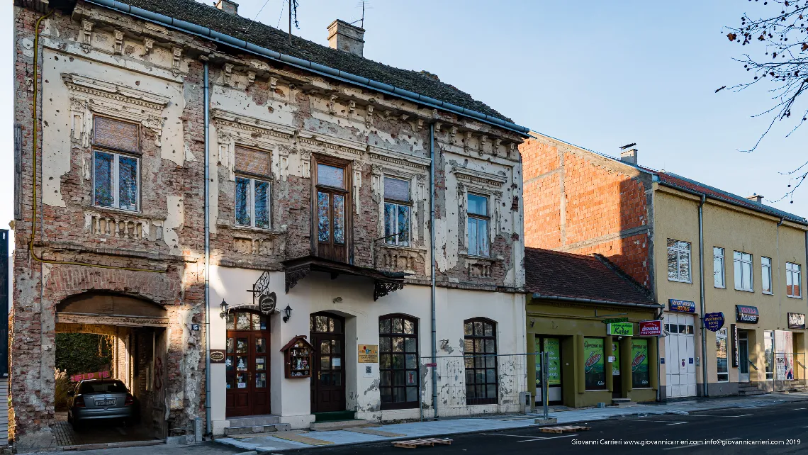
{"label": "brown wooden frame of the tall upper-floor balcony door", "polygon": [[[340,159],[335,157],[330,157],[326,155],[319,155],[319,154],[312,154],[312,191],[311,191],[311,248],[314,252],[314,255],[320,256],[322,251],[319,251],[319,231],[318,231],[318,192],[328,192],[331,195],[334,194],[341,194],[345,197],[345,255],[342,259],[335,259],[339,260],[340,262],[351,263],[352,262],[352,250],[351,247],[353,245],[353,236],[352,233],[352,226],[353,226],[353,182],[351,179],[352,172],[352,163],[350,160]],[[329,185],[321,185],[318,183],[318,165],[324,164],[326,166],[335,166],[341,167],[343,169],[343,183],[344,188],[340,187],[331,187]],[[330,197],[330,200],[333,200],[333,196]],[[330,246],[331,248],[335,247],[334,242],[334,213],[333,213],[333,203],[329,204],[330,209],[330,230],[329,230],[329,238],[330,238]],[[322,256],[321,256],[322,257]],[[326,258],[327,259],[327,258]]]}

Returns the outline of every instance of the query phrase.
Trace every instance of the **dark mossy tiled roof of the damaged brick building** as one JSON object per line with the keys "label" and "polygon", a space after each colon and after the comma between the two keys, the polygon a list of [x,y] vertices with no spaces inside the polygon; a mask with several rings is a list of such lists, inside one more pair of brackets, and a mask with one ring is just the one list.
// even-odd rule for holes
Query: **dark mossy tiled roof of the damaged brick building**
{"label": "dark mossy tiled roof of the damaged brick building", "polygon": [[[120,0],[120,2],[174,19],[208,27],[216,32],[233,36],[239,40],[246,40],[252,44],[292,57],[314,61],[335,70],[356,74],[357,76],[383,82],[419,95],[426,95],[445,103],[465,107],[487,116],[511,121],[485,103],[473,99],[465,91],[461,91],[445,82],[440,82],[434,75],[393,68],[368,58],[304,40],[299,36],[292,36],[292,45],[290,46],[288,33],[238,15],[225,13],[214,6],[205,5],[194,0]],[[325,25],[323,24],[323,29],[325,29]],[[402,27],[410,27],[410,25],[402,24]]]}

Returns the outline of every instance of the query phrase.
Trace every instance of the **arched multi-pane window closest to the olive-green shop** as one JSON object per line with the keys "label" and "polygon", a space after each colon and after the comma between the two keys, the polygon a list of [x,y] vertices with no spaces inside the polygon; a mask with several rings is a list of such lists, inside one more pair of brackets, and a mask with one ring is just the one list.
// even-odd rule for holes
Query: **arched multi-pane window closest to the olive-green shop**
{"label": "arched multi-pane window closest to the olive-green shop", "polygon": [[497,323],[486,318],[463,322],[465,404],[497,402]]}

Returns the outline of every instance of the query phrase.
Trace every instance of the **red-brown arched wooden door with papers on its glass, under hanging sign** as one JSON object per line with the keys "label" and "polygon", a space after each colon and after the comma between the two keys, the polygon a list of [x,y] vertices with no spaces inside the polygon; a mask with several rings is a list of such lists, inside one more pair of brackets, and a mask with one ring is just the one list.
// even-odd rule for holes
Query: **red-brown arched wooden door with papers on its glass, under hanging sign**
{"label": "red-brown arched wooden door with papers on its glass, under hanging sign", "polygon": [[267,316],[255,311],[227,314],[227,417],[270,413],[268,327]]}

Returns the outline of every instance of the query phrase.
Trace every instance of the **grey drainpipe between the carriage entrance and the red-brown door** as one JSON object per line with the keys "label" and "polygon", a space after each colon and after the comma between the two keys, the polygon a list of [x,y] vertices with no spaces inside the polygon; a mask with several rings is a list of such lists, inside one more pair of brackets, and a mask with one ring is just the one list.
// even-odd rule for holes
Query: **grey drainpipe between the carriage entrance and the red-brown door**
{"label": "grey drainpipe between the carriage entrance and the red-brown door", "polygon": [[208,59],[204,59],[204,413],[205,434],[211,434],[210,422],[210,92]]}

